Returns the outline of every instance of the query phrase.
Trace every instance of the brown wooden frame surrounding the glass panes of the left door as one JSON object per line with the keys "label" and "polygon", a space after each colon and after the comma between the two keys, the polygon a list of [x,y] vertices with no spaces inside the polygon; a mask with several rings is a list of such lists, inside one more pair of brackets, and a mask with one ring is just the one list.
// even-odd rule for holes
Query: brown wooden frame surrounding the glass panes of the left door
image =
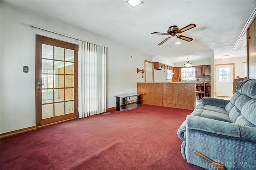
{"label": "brown wooden frame surrounding the glass panes of the left door", "polygon": [[[58,43],[56,43],[56,41],[58,41]],[[68,48],[70,47],[70,45],[74,45],[74,52],[75,52],[74,53],[74,114],[75,114],[75,117],[73,116],[73,113],[67,114],[67,116],[65,117],[66,119],[63,119],[63,117],[58,116],[58,117],[55,117],[56,121],[54,123],[48,123],[47,125],[41,125],[42,103],[40,103],[40,100],[38,99],[42,99],[42,92],[41,92],[42,89],[40,91],[37,90],[38,88],[37,82],[39,81],[40,84],[42,84],[42,77],[41,77],[42,66],[40,65],[41,62],[38,62],[38,59],[42,60],[42,46],[41,46],[42,43],[58,46],[58,47],[61,46],[63,48]],[[78,45],[36,34],[36,77],[35,78],[36,78],[35,91],[36,91],[36,127],[37,128],[76,119],[78,117]],[[39,114],[40,112],[41,114]]]}

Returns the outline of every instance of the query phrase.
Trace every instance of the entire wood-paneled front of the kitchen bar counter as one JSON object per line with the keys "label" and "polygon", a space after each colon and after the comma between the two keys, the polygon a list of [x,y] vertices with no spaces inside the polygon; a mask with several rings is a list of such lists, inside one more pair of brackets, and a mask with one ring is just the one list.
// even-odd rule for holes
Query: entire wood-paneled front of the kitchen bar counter
{"label": "entire wood-paneled front of the kitchen bar counter", "polygon": [[145,93],[143,104],[188,110],[194,110],[196,105],[194,82],[138,82],[137,91]]}

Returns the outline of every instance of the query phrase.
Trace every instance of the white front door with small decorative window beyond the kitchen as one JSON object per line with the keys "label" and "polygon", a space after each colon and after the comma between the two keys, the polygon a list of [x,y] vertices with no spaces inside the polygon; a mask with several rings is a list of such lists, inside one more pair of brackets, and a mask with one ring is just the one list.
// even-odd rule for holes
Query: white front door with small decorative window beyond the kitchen
{"label": "white front door with small decorative window beyond the kitchen", "polygon": [[215,65],[215,96],[233,95],[234,63]]}

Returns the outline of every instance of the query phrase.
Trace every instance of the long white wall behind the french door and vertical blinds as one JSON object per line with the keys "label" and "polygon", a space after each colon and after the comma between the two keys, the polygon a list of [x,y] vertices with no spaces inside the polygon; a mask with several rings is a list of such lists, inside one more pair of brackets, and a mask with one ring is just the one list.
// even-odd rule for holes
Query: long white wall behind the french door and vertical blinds
{"label": "long white wall behind the french door and vertical blinds", "polygon": [[[2,82],[0,133],[36,125],[36,34],[78,44],[77,40],[31,28],[30,24],[108,47],[107,108],[115,106],[116,99],[112,95],[136,92],[136,82],[144,81],[142,73],[137,73],[136,69],[144,68],[144,59],[152,61],[152,57],[94,36],[84,30],[30,14],[2,1],[0,3],[0,82]],[[28,73],[23,73],[24,65],[29,67]]]}

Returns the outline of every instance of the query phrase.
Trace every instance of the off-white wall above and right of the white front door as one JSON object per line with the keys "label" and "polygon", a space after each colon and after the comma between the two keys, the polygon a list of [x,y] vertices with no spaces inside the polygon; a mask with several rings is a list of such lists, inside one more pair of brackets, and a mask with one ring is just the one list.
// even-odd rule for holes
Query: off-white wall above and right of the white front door
{"label": "off-white wall above and right of the white front door", "polygon": [[244,69],[244,62],[247,61],[247,57],[237,57],[237,58],[228,58],[228,59],[216,59],[214,60],[214,64],[228,64],[228,63],[235,63],[235,78],[236,76],[239,76],[240,78],[247,77],[247,74],[245,74]]}

